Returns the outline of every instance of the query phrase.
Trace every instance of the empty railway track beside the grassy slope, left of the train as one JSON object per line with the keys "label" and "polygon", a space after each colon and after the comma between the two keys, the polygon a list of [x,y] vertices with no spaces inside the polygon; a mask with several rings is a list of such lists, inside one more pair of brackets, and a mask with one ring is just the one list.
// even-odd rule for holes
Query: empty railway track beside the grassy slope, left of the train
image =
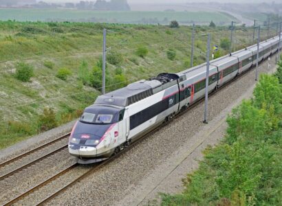
{"label": "empty railway track beside the grassy slope, left of the train", "polygon": [[[52,144],[56,144],[58,141],[61,141],[63,139],[67,139],[67,137],[69,137],[69,134],[67,135],[63,135],[62,137],[59,137],[58,139],[54,139],[53,141],[49,141],[47,142],[46,144],[43,144],[42,146],[39,146],[37,148],[34,148],[33,150],[30,150],[28,152],[25,152],[21,155],[18,155],[17,157],[14,157],[12,159],[9,159],[7,161],[4,161],[3,163],[0,163],[0,169],[3,168],[4,166],[6,165],[9,165],[11,163],[14,163],[20,159],[23,159],[24,157],[28,157],[28,155],[32,155],[34,152],[38,152],[40,150],[42,150],[43,148],[47,148],[47,146],[51,146]],[[0,181],[3,180],[3,179],[6,179],[8,176],[11,176],[13,174],[16,174],[17,172],[25,169],[25,168],[28,168],[30,165],[34,165],[35,163],[47,158],[47,157],[50,157],[54,154],[56,154],[57,152],[60,152],[61,150],[67,148],[67,144],[64,144],[63,146],[59,147],[59,148],[56,148],[54,150],[51,150],[50,152],[47,152],[45,153],[43,156],[41,157],[38,157],[32,161],[28,161],[28,163],[25,163],[24,165],[21,165],[19,166],[18,168],[14,169],[14,170],[10,170],[10,172],[7,172],[6,174],[3,174],[0,176]]]}

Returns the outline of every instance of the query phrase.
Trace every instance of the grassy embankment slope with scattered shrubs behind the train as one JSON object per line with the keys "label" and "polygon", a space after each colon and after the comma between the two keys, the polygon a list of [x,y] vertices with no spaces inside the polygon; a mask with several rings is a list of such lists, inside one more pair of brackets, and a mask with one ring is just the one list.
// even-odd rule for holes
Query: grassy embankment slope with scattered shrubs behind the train
{"label": "grassy embankment slope with scattered shrubs behind the train", "polygon": [[[0,148],[68,122],[94,102],[100,93],[103,27],[111,47],[107,91],[190,67],[191,27],[0,22]],[[196,30],[194,65],[206,58],[200,53],[206,51],[206,37],[200,34],[210,32],[213,45],[222,43],[215,56],[227,54],[228,42],[227,47],[226,41],[221,42],[230,35],[227,27]],[[237,27],[239,43],[233,49],[250,45],[249,34],[251,28]],[[19,72],[23,67],[30,73]],[[45,110],[41,117],[44,108],[54,111]]]}

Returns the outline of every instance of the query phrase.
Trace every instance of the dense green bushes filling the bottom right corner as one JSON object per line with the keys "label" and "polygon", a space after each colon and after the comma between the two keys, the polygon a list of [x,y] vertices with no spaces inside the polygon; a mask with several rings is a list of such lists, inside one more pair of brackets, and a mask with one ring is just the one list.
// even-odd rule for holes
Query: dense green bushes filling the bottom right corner
{"label": "dense green bushes filling the bottom right corner", "polygon": [[280,66],[276,76],[262,75],[254,98],[232,111],[226,138],[204,152],[199,169],[184,179],[186,190],[164,194],[162,205],[282,205]]}

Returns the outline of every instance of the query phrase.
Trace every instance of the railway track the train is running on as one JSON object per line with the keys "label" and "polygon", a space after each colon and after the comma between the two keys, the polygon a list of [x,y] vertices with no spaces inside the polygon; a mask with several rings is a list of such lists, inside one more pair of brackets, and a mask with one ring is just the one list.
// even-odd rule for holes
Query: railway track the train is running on
{"label": "railway track the train is running on", "polygon": [[[261,62],[263,63],[263,62]],[[251,71],[252,69],[254,69],[254,67],[252,67],[251,69],[248,69],[248,71]],[[246,73],[248,73],[248,71],[242,73],[240,75],[241,76],[245,76]],[[219,91],[221,91],[222,89],[224,89],[225,87],[227,87],[228,84],[235,82],[239,80],[238,78],[235,78],[233,80],[230,80],[230,82],[228,82],[227,84],[224,84],[224,86],[220,87],[219,89],[217,89],[216,91],[213,91],[213,93],[210,93],[210,95],[213,95]],[[198,104],[202,103],[202,101],[204,100],[204,98],[202,98],[201,100],[198,100],[197,102],[195,102],[195,104],[189,106],[188,110],[194,108],[195,106],[197,106]],[[186,111],[188,111],[186,110]],[[184,115],[186,113],[186,111],[177,114],[174,119],[177,119],[178,117],[181,117],[182,115]],[[166,123],[168,124],[168,123]],[[138,141],[135,141],[133,144],[131,144],[130,147],[125,148],[124,150],[122,150],[121,152],[118,153],[118,155],[115,155],[113,157],[111,157],[110,159],[107,159],[106,161],[103,161],[102,163],[96,164],[94,165],[92,168],[90,168],[87,172],[84,172],[82,175],[78,176],[78,178],[70,181],[69,183],[67,183],[66,185],[63,185],[63,187],[61,187],[61,189],[56,190],[54,193],[50,194],[50,196],[47,196],[45,199],[43,199],[42,201],[40,201],[39,203],[36,203],[36,205],[43,205],[49,201],[52,201],[53,198],[55,198],[56,196],[58,196],[59,194],[63,193],[65,190],[67,190],[69,187],[72,187],[72,185],[76,184],[78,181],[81,181],[82,179],[85,179],[87,176],[89,176],[90,174],[93,174],[93,172],[95,172],[96,170],[99,170],[100,168],[102,168],[102,166],[110,163],[111,161],[113,161],[113,159],[116,159],[118,157],[120,157],[122,154],[124,154],[124,152],[127,152],[127,150],[130,150],[131,148],[133,148],[134,145],[137,145],[140,141],[143,141],[144,139],[146,139],[149,135],[155,133],[157,130],[160,130],[163,126],[166,126],[166,124],[162,124],[162,126],[159,126],[158,128],[155,128],[154,130],[152,130],[150,133],[147,133],[146,135],[144,135],[143,138],[139,139]],[[31,194],[32,192],[38,190],[40,187],[43,187],[43,185],[46,185],[47,183],[50,183],[52,181],[56,181],[56,178],[58,178],[58,176],[61,176],[63,174],[65,174],[66,172],[78,167],[79,165],[77,163],[74,163],[73,165],[69,165],[68,168],[65,168],[65,170],[62,170],[61,172],[58,172],[57,174],[55,174],[54,176],[50,177],[49,179],[42,181],[41,183],[39,183],[38,185],[30,188],[30,190],[24,192],[23,194],[17,196],[16,198],[12,199],[11,201],[9,201],[8,203],[5,203],[4,205],[12,205],[13,203],[16,203],[17,201],[21,200],[23,197],[27,196],[28,194]]]}

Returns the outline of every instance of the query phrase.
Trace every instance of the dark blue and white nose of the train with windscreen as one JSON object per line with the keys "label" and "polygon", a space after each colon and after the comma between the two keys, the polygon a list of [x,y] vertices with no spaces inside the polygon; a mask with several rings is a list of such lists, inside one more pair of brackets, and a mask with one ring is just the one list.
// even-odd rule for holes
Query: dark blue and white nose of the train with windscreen
{"label": "dark blue and white nose of the train with windscreen", "polygon": [[85,109],[76,122],[69,138],[69,153],[80,159],[104,160],[113,154],[112,138],[118,133],[118,122],[124,108],[119,106],[93,105]]}

